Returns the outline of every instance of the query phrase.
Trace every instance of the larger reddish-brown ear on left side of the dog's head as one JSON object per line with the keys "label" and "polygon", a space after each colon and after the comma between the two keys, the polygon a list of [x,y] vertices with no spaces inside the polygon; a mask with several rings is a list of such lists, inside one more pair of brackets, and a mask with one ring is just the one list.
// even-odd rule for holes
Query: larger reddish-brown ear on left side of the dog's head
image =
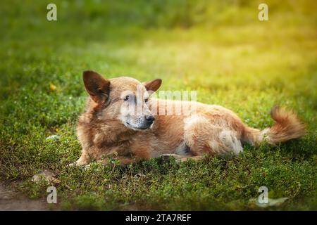
{"label": "larger reddish-brown ear on left side of the dog's head", "polygon": [[84,71],[82,74],[85,89],[95,103],[106,103],[109,97],[110,81],[97,72]]}

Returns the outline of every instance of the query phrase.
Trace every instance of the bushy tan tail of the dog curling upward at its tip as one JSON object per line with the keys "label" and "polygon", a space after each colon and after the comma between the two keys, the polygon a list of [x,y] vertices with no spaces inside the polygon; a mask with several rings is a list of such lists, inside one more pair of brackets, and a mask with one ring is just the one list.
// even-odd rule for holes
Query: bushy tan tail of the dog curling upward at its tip
{"label": "bushy tan tail of the dog curling upward at its tip", "polygon": [[298,119],[297,115],[285,108],[273,107],[271,117],[275,120],[272,127],[260,131],[251,127],[245,127],[243,139],[257,145],[262,141],[277,144],[291,139],[298,139],[306,133],[305,125]]}

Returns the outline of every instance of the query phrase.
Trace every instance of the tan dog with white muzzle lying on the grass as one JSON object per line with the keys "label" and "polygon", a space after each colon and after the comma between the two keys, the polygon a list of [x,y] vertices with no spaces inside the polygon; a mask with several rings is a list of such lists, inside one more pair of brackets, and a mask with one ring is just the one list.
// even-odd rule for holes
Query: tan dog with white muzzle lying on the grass
{"label": "tan dog with white muzzle lying on the grass", "polygon": [[[89,98],[77,124],[82,155],[70,165],[85,166],[92,160],[108,165],[113,158],[125,165],[161,155],[181,161],[199,160],[204,155],[238,155],[243,143],[275,145],[305,134],[304,124],[285,108],[273,107],[275,124],[261,131],[220,105],[151,98],[161,79],[141,83],[131,77],[105,79],[97,72],[85,71],[83,81]],[[139,109],[135,105],[140,105]],[[175,110],[184,106],[189,109],[175,115]],[[166,115],[168,108],[174,113]]]}

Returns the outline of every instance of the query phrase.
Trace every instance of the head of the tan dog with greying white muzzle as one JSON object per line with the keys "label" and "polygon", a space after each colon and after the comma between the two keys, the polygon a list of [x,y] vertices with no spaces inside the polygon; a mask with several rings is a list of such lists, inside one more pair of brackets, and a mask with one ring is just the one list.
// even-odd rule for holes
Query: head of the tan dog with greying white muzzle
{"label": "head of the tan dog with greying white muzzle", "polygon": [[141,83],[131,77],[104,79],[97,72],[83,73],[85,88],[101,110],[99,119],[118,120],[134,130],[149,129],[154,124],[149,97],[161,86],[161,79]]}

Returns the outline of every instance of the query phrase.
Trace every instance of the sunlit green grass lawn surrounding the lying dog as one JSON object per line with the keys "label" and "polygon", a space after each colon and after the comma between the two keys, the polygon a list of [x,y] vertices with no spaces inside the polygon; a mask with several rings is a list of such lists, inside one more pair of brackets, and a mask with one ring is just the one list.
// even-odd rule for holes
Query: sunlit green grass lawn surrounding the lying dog
{"label": "sunlit green grass lawn surrounding the lying dog", "polygon": [[[0,7],[1,181],[44,198],[49,184],[31,178],[51,169],[63,210],[257,210],[249,199],[259,186],[269,198],[290,198],[268,210],[317,210],[316,3],[267,1],[270,20],[260,22],[256,1],[56,1],[58,21],[48,22],[50,2],[40,2]],[[160,77],[162,90],[197,90],[199,101],[261,129],[273,123],[271,107],[285,105],[308,134],[245,146],[237,158],[68,168],[81,150],[83,70]],[[61,139],[46,141],[52,134]]]}

